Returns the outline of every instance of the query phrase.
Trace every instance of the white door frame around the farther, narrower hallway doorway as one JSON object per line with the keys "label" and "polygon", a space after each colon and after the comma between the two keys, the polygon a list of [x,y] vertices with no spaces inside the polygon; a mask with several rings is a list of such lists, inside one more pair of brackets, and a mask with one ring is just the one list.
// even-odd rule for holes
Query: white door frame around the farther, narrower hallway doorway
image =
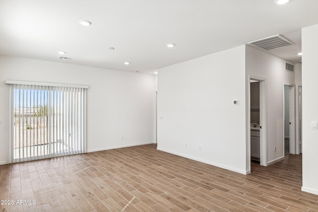
{"label": "white door frame around the farther, narrower hallway doorway", "polygon": [[[296,85],[290,83],[284,83],[285,86],[289,87],[289,153],[296,154]],[[285,90],[283,90],[283,149],[285,157]],[[299,145],[299,144],[298,144]]]}

